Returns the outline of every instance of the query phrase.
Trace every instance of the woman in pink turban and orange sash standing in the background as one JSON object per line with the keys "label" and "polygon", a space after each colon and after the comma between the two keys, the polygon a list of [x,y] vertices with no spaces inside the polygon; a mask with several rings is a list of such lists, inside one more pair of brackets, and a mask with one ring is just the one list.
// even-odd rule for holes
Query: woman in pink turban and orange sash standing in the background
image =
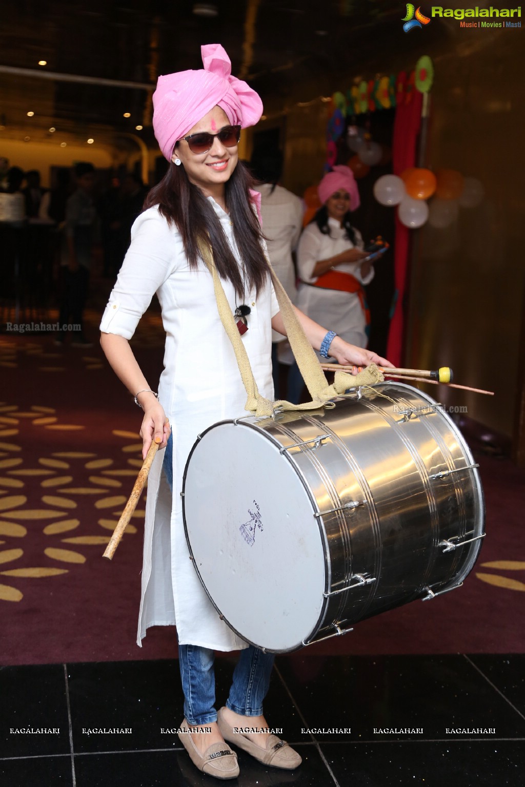
{"label": "woman in pink turban and orange sash standing in the background", "polygon": [[[350,213],[360,205],[359,191],[349,167],[338,165],[327,172],[317,187],[323,206],[305,227],[298,245],[296,304],[305,314],[324,325],[329,322],[346,342],[366,347],[368,309],[363,285],[374,278],[359,231]],[[297,364],[290,372],[292,401],[299,401],[304,383]]]}

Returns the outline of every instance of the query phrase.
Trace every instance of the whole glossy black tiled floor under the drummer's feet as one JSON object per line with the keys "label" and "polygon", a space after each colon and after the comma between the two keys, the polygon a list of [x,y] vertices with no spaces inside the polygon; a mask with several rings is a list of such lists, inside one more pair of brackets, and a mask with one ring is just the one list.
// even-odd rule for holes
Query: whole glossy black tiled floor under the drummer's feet
{"label": "whole glossy black tiled floor under the drummer's feet", "polygon": [[[218,705],[226,700],[234,661],[230,656],[216,660]],[[367,657],[304,651],[279,656],[265,714],[269,723],[283,727],[283,737],[297,746],[303,764],[288,773],[240,752],[241,775],[230,783],[521,787],[524,662],[525,656],[516,654]],[[2,787],[217,783],[194,768],[175,734],[161,731],[183,718],[176,663],[79,663],[66,671],[63,665],[5,667],[0,697]],[[61,733],[10,733],[11,727],[23,726],[59,727]],[[109,727],[131,728],[131,734],[83,733],[83,728]],[[418,728],[423,732],[399,731]],[[453,731],[473,729],[481,731]]]}

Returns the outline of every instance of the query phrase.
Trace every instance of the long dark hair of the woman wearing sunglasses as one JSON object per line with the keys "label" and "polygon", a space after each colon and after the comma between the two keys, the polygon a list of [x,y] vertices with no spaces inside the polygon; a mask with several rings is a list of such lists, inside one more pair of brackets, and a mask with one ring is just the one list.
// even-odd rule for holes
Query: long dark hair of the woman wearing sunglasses
{"label": "long dark hair of the woman wearing sunglasses", "polygon": [[[252,185],[252,176],[244,164],[238,161],[231,178],[225,183],[225,201],[242,259],[246,286],[250,289],[254,287],[259,294],[266,283],[268,263],[261,246],[264,235],[248,192]],[[238,295],[245,294],[242,275],[213,205],[210,205],[198,186],[190,183],[183,166],[177,167],[170,162],[161,183],[146,195],[144,208],[153,205],[158,205],[162,216],[179,230],[190,268],[198,267],[198,239],[209,238],[213,260],[221,279],[230,281]]]}

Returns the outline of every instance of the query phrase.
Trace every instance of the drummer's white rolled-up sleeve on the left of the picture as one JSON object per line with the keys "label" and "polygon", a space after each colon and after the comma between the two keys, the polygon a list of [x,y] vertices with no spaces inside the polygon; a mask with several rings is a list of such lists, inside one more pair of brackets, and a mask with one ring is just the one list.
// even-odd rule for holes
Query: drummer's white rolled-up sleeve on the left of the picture
{"label": "drummer's white rolled-up sleeve on the left of the picture", "polygon": [[100,330],[131,339],[153,294],[176,267],[176,230],[157,208],[142,213],[131,227],[131,245],[124,257]]}

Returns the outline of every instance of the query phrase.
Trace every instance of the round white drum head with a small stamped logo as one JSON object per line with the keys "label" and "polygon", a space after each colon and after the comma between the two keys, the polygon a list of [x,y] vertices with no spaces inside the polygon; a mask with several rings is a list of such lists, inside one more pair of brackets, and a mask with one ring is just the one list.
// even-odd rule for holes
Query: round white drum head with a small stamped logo
{"label": "round white drum head with a small stamped logo", "polygon": [[218,423],[187,460],[194,566],[227,624],[269,651],[301,647],[324,612],[324,531],[287,452],[252,423]]}

